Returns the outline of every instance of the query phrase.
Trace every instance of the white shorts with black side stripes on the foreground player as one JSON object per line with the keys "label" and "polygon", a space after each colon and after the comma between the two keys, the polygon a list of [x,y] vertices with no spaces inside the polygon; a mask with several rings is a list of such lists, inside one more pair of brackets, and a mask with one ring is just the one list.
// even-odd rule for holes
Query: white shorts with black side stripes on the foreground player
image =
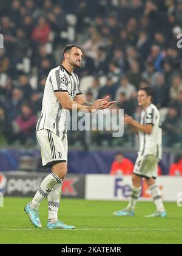
{"label": "white shorts with black side stripes on the foreground player", "polygon": [[63,140],[51,130],[39,130],[36,138],[41,147],[42,165],[44,169],[56,163],[67,163],[67,138]]}

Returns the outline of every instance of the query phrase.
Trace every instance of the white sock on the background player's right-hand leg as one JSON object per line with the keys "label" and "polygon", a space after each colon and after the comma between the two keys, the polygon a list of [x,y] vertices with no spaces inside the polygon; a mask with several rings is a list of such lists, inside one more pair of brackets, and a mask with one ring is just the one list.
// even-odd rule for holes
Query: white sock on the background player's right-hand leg
{"label": "white sock on the background player's right-hand leg", "polygon": [[149,187],[158,212],[165,212],[162,194],[157,184]]}

